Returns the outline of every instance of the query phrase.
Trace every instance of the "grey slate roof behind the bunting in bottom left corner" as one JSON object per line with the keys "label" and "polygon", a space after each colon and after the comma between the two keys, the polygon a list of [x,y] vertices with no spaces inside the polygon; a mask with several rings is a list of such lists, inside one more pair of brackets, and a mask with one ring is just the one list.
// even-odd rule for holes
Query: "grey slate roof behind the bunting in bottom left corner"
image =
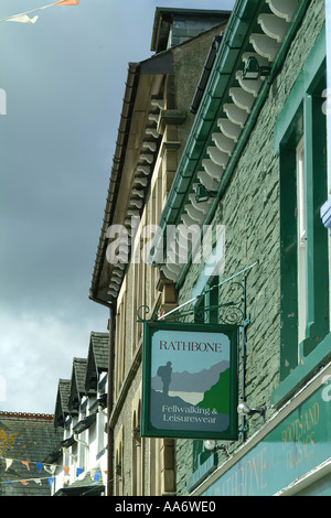
{"label": "grey slate roof behind the bunting in bottom left corner", "polygon": [[[44,465],[35,463],[43,463],[50,451],[58,445],[62,433],[54,429],[53,416],[0,412],[0,496],[51,495],[49,477],[52,475]],[[13,460],[7,471],[6,458]],[[29,470],[22,461],[29,461]]]}

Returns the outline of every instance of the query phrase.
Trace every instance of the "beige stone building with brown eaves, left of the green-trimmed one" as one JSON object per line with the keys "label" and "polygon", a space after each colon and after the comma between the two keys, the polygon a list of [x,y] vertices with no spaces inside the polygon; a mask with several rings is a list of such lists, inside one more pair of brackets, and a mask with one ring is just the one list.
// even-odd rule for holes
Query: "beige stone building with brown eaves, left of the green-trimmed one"
{"label": "beige stone building with brown eaves, left of the green-trimmed one", "polygon": [[[129,64],[90,298],[110,309],[108,495],[175,493],[171,439],[140,436],[142,322],[177,304],[173,282],[148,261],[143,235],[158,224],[206,57],[214,58],[227,11],[156,10],[151,51]],[[135,235],[138,238],[135,239]],[[141,239],[140,239],[141,236]]]}

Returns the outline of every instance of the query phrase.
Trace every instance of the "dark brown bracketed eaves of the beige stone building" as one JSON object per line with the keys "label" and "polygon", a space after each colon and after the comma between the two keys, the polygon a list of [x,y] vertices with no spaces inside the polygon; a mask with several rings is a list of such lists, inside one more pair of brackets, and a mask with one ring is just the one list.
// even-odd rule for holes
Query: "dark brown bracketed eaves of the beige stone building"
{"label": "dark brown bracketed eaves of the beige stone building", "polygon": [[[115,268],[107,261],[107,231],[113,224],[129,228],[130,222],[127,223],[126,217],[140,215],[143,208],[151,164],[156,160],[160,142],[158,121],[160,111],[163,110],[161,84],[172,73],[171,51],[128,65],[104,220],[89,289],[89,298],[106,305],[117,299],[125,271],[124,263],[118,263]],[[124,201],[119,199],[119,193],[122,193]]]}

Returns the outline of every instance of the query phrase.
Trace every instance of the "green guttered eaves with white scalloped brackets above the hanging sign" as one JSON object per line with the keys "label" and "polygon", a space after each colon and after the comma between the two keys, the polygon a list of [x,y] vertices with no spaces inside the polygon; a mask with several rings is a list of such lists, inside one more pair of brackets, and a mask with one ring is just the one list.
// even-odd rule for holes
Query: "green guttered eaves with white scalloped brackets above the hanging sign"
{"label": "green guttered eaves with white scalloped brackets above the hanging sign", "polygon": [[[159,220],[159,240],[166,236],[168,225],[202,227],[211,222],[309,3],[310,0],[236,2]],[[260,66],[268,66],[269,77],[244,79],[248,56],[256,57]],[[213,191],[215,197],[196,203],[197,184]],[[173,242],[166,244],[167,250],[178,250],[178,236],[177,233]],[[156,250],[160,246],[154,242]],[[192,252],[185,262],[173,260],[172,256],[171,262],[160,266],[178,289],[191,258]]]}

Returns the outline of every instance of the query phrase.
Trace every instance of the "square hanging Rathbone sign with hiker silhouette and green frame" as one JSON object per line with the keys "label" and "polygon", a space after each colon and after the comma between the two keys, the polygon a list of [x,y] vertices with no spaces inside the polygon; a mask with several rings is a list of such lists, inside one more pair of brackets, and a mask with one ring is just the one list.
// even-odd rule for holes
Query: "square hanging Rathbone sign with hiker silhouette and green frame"
{"label": "square hanging Rathbone sign with hiker silhouette and green frame", "polygon": [[145,322],[141,435],[236,440],[238,327]]}

